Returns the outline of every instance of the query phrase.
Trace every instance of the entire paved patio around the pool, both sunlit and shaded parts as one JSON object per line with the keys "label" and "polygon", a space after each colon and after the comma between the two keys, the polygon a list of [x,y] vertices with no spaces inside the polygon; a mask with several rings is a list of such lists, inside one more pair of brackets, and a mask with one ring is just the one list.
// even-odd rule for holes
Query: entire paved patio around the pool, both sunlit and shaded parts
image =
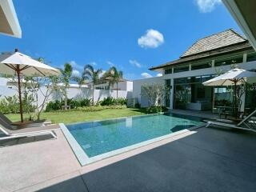
{"label": "entire paved patio around the pool, both sunlit and shaded parts", "polygon": [[57,134],[57,140],[1,143],[10,146],[0,148],[0,191],[256,189],[256,134],[250,132],[200,128],[83,167]]}

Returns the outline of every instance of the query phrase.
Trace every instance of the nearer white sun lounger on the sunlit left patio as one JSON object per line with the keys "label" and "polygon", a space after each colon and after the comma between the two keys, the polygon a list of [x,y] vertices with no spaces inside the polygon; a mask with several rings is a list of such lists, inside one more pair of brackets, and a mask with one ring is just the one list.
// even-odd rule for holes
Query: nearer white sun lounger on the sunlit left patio
{"label": "nearer white sun lounger on the sunlit left patio", "polygon": [[57,135],[54,133],[54,130],[59,128],[58,125],[50,125],[50,126],[38,126],[38,127],[28,127],[20,130],[10,130],[6,126],[0,125],[0,130],[6,136],[0,137],[0,140],[6,140],[10,138],[26,138],[26,137],[34,137],[40,135],[50,134],[53,138],[57,138]]}

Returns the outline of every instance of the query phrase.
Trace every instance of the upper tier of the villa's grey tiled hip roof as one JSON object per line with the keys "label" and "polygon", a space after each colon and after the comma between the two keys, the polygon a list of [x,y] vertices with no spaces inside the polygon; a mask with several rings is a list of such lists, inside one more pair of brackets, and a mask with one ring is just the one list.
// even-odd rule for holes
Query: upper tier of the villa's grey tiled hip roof
{"label": "upper tier of the villa's grey tiled hip roof", "polygon": [[200,54],[209,50],[216,50],[225,46],[232,46],[240,42],[246,42],[247,39],[241,34],[238,34],[233,29],[222,31],[218,34],[210,35],[206,38],[199,39],[195,42],[181,58],[188,57],[194,54]]}

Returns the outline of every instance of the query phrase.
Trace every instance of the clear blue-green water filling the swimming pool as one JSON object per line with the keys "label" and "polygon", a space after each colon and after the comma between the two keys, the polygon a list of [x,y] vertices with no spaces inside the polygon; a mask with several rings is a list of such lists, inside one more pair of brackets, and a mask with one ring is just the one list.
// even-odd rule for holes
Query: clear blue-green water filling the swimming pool
{"label": "clear blue-green water filling the swimming pool", "polygon": [[178,114],[153,114],[67,125],[89,158],[202,124]]}

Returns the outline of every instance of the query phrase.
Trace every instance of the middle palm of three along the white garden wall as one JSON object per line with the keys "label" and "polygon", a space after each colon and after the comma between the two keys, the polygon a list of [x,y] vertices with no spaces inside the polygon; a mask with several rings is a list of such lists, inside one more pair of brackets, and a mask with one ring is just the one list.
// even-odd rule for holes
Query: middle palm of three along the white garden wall
{"label": "middle palm of three along the white garden wall", "polygon": [[86,65],[82,73],[82,78],[90,80],[93,84],[93,104],[94,104],[94,85],[99,80],[99,75],[102,73],[102,69],[94,70],[94,66]]}

